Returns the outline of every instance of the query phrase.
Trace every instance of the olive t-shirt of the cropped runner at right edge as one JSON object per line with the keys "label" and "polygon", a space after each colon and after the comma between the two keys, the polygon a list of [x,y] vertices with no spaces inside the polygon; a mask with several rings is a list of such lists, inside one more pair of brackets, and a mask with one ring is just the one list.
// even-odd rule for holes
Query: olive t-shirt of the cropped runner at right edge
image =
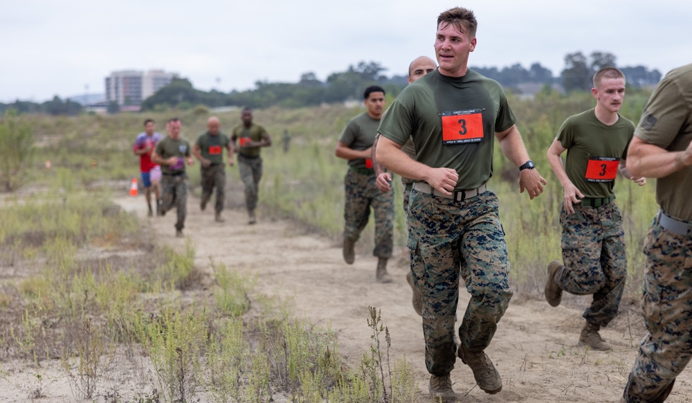
{"label": "olive t-shirt of the cropped runner at right edge", "polygon": [[[668,151],[692,141],[692,64],[673,69],[651,94],[635,136]],[[656,202],[668,215],[692,221],[692,167],[656,181]]]}

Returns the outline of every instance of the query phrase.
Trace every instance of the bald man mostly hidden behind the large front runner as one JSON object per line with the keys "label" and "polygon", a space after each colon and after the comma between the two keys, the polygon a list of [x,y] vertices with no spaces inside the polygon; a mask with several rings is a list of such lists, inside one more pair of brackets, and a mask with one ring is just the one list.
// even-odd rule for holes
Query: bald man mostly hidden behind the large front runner
{"label": "bald man mostly hidden behind the large front runner", "polygon": [[[428,73],[432,73],[432,71],[435,71],[435,69],[437,69],[437,65],[435,64],[435,61],[430,59],[430,57],[416,57],[415,60],[408,65],[408,83],[412,84],[415,82],[415,80],[418,80]],[[377,163],[377,159],[375,158],[375,150],[379,137],[380,135],[378,134],[375,138],[375,143],[372,145],[372,166],[375,168],[375,174],[377,175],[377,180],[375,183],[377,188],[383,192],[388,192],[390,190],[390,183],[392,183],[392,174],[391,172],[387,172],[384,168],[382,168],[382,165]],[[410,158],[415,158],[416,156],[416,147],[413,145],[410,138],[406,144],[401,147],[401,151],[406,152],[406,155],[410,156]],[[413,181],[412,179],[401,177],[401,183],[403,183],[403,213],[408,215],[408,196],[411,194],[411,186]],[[413,285],[413,278],[410,271],[408,271],[406,274],[406,281],[408,282],[408,285],[411,286],[413,293],[411,298],[413,309],[417,314],[422,315],[423,301],[421,301],[421,292],[415,287],[415,285]]]}

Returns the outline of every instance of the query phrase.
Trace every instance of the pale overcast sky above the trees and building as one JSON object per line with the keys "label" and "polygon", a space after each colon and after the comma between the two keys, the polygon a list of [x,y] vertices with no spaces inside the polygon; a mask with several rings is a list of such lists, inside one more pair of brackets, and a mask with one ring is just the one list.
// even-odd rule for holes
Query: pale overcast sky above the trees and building
{"label": "pale overcast sky above the trees and building", "polygon": [[432,58],[453,6],[478,20],[471,66],[558,75],[567,53],[610,52],[665,74],[692,62],[690,0],[21,0],[0,12],[0,102],[104,93],[111,71],[164,69],[203,90],[320,80],[360,61],[405,75]]}

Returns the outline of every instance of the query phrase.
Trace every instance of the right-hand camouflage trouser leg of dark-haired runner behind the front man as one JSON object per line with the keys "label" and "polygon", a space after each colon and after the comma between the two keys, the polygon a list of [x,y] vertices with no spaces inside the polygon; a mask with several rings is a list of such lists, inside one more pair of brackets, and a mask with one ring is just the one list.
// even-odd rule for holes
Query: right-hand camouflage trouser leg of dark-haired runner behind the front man
{"label": "right-hand camouflage trouser leg of dark-haired runner behind the front man", "polygon": [[392,257],[392,233],[394,233],[394,190],[381,192],[373,179],[368,183],[370,206],[375,216],[375,247],[372,254],[378,258]]}

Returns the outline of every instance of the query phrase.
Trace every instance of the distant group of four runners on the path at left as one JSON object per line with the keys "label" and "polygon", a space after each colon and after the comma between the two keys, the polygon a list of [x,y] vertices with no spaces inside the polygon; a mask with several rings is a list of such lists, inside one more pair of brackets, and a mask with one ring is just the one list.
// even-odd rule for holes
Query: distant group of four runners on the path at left
{"label": "distant group of four runners on the path at left", "polygon": [[257,222],[257,192],[262,179],[262,147],[271,145],[271,136],[264,127],[253,123],[251,109],[245,108],[241,114],[242,123],[226,136],[221,132],[219,118],[212,116],[207,120],[207,131],[201,134],[194,145],[181,138],[182,122],[171,118],[166,123],[167,136],[156,132],[154,120],[144,122],[145,131],[140,133],[134,143],[134,153],[140,156],[140,170],[149,216],[154,215],[152,196],[155,197],[156,215],[165,215],[176,209],[176,236],[183,237],[185,215],[188,204],[188,174],[185,166],[193,165],[194,156],[201,165],[201,203],[206,209],[212,195],[216,195],[215,221],[224,222],[221,212],[226,200],[226,150],[228,165],[234,165],[237,153],[240,179],[245,187],[245,203],[248,211],[248,224]]}

